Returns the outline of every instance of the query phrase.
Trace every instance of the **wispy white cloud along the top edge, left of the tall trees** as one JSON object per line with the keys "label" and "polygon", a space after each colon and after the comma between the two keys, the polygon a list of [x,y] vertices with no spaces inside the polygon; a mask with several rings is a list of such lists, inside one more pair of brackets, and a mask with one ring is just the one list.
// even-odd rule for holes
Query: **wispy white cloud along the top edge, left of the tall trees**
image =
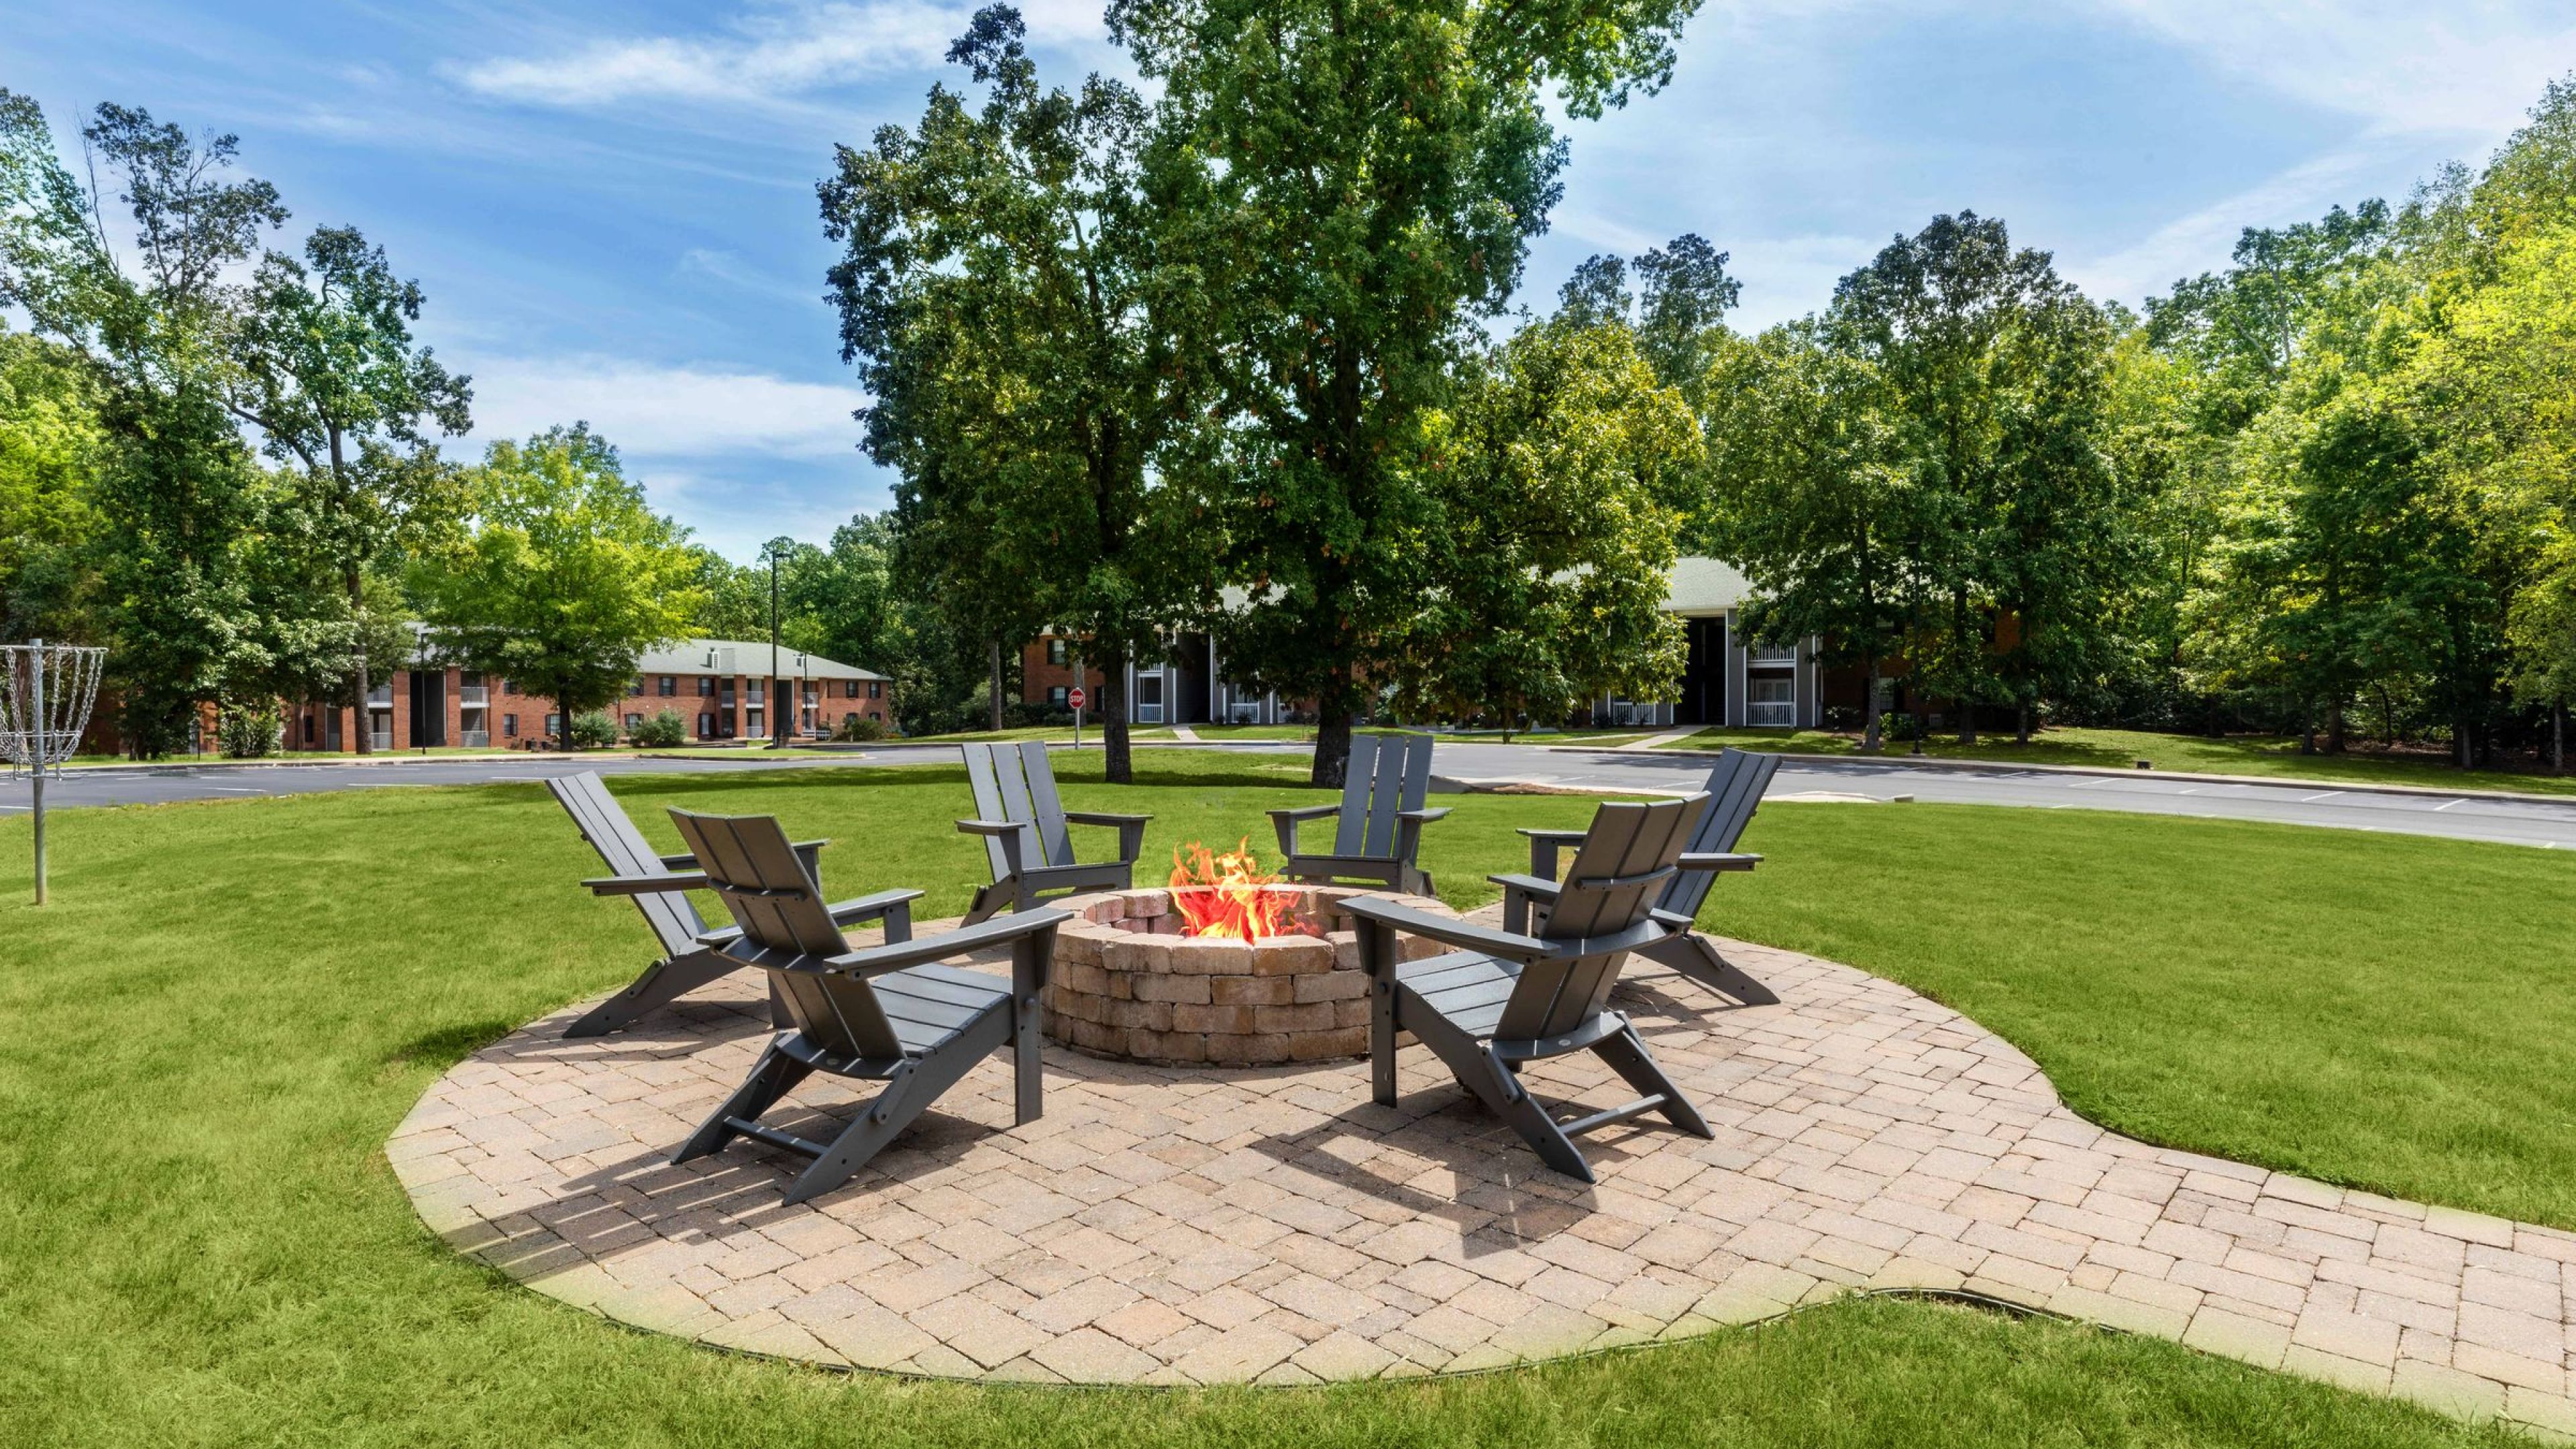
{"label": "wispy white cloud along the top edge, left of the tall trees", "polygon": [[[930,0],[799,3],[744,15],[721,36],[603,39],[544,57],[495,57],[456,77],[484,95],[538,106],[621,101],[775,103],[889,72],[935,70],[974,5]],[[1100,5],[1023,5],[1030,39],[1100,36]]]}

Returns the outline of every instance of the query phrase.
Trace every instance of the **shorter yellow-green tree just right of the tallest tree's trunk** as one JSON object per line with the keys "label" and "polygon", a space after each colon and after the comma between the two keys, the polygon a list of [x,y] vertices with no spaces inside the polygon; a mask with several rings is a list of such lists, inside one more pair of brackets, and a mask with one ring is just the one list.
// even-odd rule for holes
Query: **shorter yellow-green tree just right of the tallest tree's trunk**
{"label": "shorter yellow-green tree just right of the tallest tree's trunk", "polygon": [[1698,428],[1625,325],[1525,327],[1430,420],[1427,451],[1430,583],[1388,647],[1401,714],[1515,730],[1674,691],[1664,578]]}

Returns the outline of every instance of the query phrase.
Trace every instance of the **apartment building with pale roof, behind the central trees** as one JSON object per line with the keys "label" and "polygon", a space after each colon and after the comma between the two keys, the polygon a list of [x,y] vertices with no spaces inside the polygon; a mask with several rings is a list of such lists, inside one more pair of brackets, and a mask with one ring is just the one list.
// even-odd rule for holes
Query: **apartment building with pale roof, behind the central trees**
{"label": "apartment building with pale roof, behind the central trees", "polygon": [[[1677,699],[1597,699],[1597,724],[1739,724],[1803,730],[1816,727],[1826,704],[1826,681],[1816,670],[1816,642],[1788,647],[1754,645],[1744,637],[1739,614],[1752,588],[1744,575],[1718,559],[1687,557],[1664,588],[1664,611],[1682,619],[1690,645]],[[1082,642],[1048,632],[1020,655],[1023,699],[1064,704],[1074,683],[1074,655]],[[1097,699],[1103,676],[1084,665],[1084,688]],[[1291,717],[1314,719],[1311,704],[1280,701],[1226,678],[1224,657],[1206,634],[1180,634],[1164,663],[1128,665],[1128,719],[1133,724],[1283,724]],[[1842,683],[1842,681],[1834,681]],[[1850,704],[1860,686],[1850,683]]]}

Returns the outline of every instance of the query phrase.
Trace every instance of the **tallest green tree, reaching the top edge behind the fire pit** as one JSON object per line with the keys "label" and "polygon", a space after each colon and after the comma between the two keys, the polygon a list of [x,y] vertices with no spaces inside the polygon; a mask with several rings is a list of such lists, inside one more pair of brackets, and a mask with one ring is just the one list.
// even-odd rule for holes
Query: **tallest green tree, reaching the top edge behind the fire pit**
{"label": "tallest green tree, reaching the top edge behind the fire pit", "polygon": [[[1218,619],[1247,683],[1352,714],[1435,583],[1427,423],[1558,199],[1546,93],[1597,116],[1672,72],[1695,0],[1113,0],[1162,88],[1159,248],[1198,276],[1175,361],[1206,428],[1175,474],[1244,590]],[[1177,278],[1175,278],[1177,281]]]}

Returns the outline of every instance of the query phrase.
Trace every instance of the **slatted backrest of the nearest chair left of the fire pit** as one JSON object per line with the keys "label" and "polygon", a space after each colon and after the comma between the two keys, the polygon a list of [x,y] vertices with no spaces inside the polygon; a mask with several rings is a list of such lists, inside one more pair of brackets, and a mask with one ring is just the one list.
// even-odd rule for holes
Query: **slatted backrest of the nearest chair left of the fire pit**
{"label": "slatted backrest of the nearest chair left of the fire pit", "polygon": [[902,1057],[904,1047],[866,980],[791,969],[837,957],[850,941],[832,923],[822,887],[796,859],[778,817],[688,810],[670,817],[742,928],[724,954],[770,972],[788,1021],[832,1057]]}

